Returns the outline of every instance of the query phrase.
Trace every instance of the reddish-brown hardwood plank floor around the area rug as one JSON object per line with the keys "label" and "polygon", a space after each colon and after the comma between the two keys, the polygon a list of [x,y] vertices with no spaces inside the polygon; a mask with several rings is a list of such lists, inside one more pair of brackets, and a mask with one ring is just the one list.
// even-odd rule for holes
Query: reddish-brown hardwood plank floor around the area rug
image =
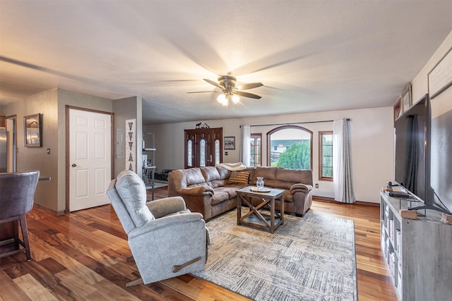
{"label": "reddish-brown hardwood plank floor around the area rug", "polygon": [[[157,188],[155,199],[166,197]],[[355,221],[359,300],[396,300],[381,258],[379,208],[314,202],[311,211]],[[32,261],[0,259],[0,300],[248,300],[191,275],[126,288],[138,278],[126,234],[110,205],[27,215]]]}

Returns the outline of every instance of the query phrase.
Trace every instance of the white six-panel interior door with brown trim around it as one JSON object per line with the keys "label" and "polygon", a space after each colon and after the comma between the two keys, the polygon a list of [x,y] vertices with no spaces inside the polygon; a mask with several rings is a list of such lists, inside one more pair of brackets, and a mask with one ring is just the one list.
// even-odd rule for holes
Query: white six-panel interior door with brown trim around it
{"label": "white six-panel interior door with brown trim around it", "polygon": [[111,117],[69,110],[69,211],[109,204]]}

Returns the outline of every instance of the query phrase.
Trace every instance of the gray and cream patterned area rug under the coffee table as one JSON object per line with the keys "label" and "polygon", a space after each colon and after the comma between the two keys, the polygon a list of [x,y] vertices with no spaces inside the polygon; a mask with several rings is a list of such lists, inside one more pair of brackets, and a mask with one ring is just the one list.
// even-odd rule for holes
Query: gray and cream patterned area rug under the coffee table
{"label": "gray and cream patterned area rug under the coffee table", "polygon": [[237,226],[233,210],[206,226],[208,262],[194,276],[253,300],[357,300],[351,220],[286,215],[285,224],[271,234]]}

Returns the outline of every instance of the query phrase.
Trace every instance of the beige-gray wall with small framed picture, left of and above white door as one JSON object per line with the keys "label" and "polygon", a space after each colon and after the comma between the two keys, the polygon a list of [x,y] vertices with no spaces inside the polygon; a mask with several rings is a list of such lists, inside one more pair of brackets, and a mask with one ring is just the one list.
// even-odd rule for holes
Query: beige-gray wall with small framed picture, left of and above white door
{"label": "beige-gray wall with small framed picture, left of and above white door", "polygon": [[[113,101],[102,97],[52,89],[2,107],[17,115],[17,171],[39,170],[52,180],[40,181],[35,204],[62,214],[66,208],[66,105],[112,112]],[[42,113],[42,147],[24,147],[23,116]],[[50,154],[47,154],[47,148]]]}

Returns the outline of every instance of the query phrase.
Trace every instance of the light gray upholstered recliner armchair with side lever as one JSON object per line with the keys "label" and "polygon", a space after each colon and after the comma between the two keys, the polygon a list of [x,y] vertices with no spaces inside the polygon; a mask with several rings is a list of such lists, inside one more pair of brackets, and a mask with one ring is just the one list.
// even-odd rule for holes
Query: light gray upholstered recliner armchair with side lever
{"label": "light gray upholstered recliner armchair with side lever", "polygon": [[202,214],[186,209],[182,197],[146,202],[143,180],[121,171],[107,195],[129,238],[141,278],[126,286],[148,284],[201,271],[210,241]]}

